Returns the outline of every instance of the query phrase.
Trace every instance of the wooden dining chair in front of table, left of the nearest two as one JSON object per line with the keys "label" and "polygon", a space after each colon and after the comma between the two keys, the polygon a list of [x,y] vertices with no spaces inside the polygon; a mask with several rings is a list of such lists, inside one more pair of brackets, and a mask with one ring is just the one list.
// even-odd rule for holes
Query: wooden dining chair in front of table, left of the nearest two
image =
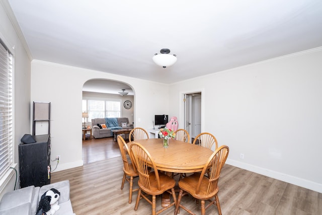
{"label": "wooden dining chair in front of table, left of the nearest two", "polygon": [[[135,210],[138,208],[139,200],[144,198],[147,202],[152,205],[152,215],[159,214],[160,212],[175,206],[177,203],[177,197],[175,193],[176,181],[165,174],[159,174],[156,169],[153,158],[146,151],[146,149],[133,142],[130,147],[131,153],[133,155],[133,160],[135,162],[137,171],[139,173],[138,186],[139,191],[136,198]],[[152,167],[154,171],[149,171],[149,166]],[[169,192],[173,196],[173,202],[168,206],[163,207],[162,209],[156,211],[156,195],[163,194],[164,192]],[[145,194],[151,195],[152,200],[150,200]]]}

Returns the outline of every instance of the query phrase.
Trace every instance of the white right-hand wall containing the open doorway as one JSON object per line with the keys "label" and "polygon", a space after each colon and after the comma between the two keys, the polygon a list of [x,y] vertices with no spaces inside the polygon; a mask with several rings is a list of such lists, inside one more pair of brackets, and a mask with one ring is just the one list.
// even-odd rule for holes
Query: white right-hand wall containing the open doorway
{"label": "white right-hand wall containing the open doorway", "polygon": [[316,48],[176,83],[170,115],[202,89],[202,132],[229,146],[228,164],[322,192],[321,59]]}

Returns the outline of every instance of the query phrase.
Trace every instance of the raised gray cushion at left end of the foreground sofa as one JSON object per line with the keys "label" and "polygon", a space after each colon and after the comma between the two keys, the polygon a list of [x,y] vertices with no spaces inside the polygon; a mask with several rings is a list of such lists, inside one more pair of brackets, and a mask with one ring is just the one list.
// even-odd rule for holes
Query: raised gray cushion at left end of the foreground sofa
{"label": "raised gray cushion at left end of the foreground sofa", "polygon": [[[32,202],[34,195],[35,186],[24,187],[13,192],[8,192],[2,197],[0,209],[7,210],[26,203],[31,207],[30,202]],[[38,195],[35,197],[38,199]]]}

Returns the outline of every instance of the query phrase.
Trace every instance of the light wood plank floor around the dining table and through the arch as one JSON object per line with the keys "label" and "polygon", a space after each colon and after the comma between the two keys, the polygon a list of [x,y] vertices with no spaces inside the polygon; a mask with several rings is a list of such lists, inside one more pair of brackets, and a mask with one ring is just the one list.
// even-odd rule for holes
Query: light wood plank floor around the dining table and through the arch
{"label": "light wood plank floor around the dining table and through the arch", "polygon": [[[103,144],[104,143],[104,144]],[[77,215],[82,214],[150,214],[151,206],[140,200],[134,210],[137,192],[128,203],[129,184],[121,190],[123,163],[117,142],[109,138],[84,140],[87,164],[52,173],[51,182],[68,179],[70,199]],[[102,145],[103,144],[103,145]],[[102,146],[101,146],[102,145]],[[93,156],[91,156],[93,153]],[[134,188],[137,187],[134,179]],[[322,215],[322,194],[286,182],[225,164],[219,179],[219,201],[222,214],[317,214]],[[161,208],[157,197],[157,209]],[[182,203],[200,214],[198,205],[186,195]],[[173,214],[168,209],[161,214]],[[180,214],[187,214],[183,209]],[[206,214],[218,214],[210,206]]]}

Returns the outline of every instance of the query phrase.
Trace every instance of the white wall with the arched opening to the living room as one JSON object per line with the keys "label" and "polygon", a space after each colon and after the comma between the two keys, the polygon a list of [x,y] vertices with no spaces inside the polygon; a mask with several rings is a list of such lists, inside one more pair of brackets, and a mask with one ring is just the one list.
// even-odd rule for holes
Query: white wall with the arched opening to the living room
{"label": "white wall with the arched opening to the living room", "polygon": [[[150,128],[156,112],[168,112],[167,85],[38,60],[32,61],[31,102],[51,102],[51,155],[60,155],[56,171],[83,165],[83,85],[90,79],[122,81],[134,90],[135,127]],[[51,164],[55,165],[54,162]]]}

